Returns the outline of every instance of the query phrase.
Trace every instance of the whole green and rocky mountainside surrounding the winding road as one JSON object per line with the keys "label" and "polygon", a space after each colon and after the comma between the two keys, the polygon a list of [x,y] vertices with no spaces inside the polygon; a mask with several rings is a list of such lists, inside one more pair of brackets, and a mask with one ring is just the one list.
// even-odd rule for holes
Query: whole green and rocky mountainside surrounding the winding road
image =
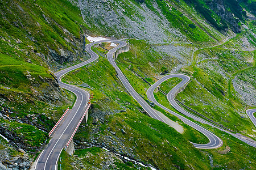
{"label": "whole green and rocky mountainside surrounding the winding road", "polygon": [[[193,114],[255,141],[245,113],[256,107],[255,11],[255,0],[0,0],[0,169],[30,168],[49,141],[47,133],[72,108],[76,96],[61,89],[53,73],[90,57],[89,36],[129,44],[115,61],[148,103],[146,91],[160,77],[189,75],[176,99]],[[93,48],[97,61],[63,78],[93,99],[88,122],[74,138],[75,154],[61,153],[62,169],[256,167],[255,148],[229,134],[202,125],[224,145],[199,150],[190,142],[208,139],[179,118],[154,106],[183,133],[142,113],[106,59],[110,43],[103,46]],[[168,93],[179,81],[159,88]],[[179,113],[162,92],[154,95]]]}

